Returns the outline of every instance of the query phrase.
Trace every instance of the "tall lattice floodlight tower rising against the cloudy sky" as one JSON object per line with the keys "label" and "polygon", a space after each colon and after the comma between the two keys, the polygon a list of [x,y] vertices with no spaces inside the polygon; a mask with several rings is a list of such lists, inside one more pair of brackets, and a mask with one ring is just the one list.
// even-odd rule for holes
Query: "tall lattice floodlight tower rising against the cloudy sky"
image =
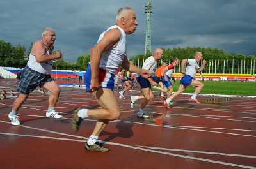
{"label": "tall lattice floodlight tower rising against the cloudy sky", "polygon": [[145,13],[147,15],[146,25],[146,38],[145,38],[145,54],[151,52],[151,13],[153,12],[153,6],[151,0],[147,0],[145,5]]}

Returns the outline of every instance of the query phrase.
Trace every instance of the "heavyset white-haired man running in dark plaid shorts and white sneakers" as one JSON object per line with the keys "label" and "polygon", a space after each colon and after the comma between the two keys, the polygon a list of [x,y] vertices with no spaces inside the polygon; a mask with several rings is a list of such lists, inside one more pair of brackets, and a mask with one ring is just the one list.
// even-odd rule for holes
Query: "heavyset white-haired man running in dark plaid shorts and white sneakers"
{"label": "heavyset white-haired man running in dark plaid shorts and white sneakers", "polygon": [[13,125],[20,125],[17,111],[22,103],[26,101],[29,93],[34,91],[38,86],[44,87],[51,92],[46,117],[62,117],[54,110],[59,98],[60,88],[51,78],[52,60],[59,59],[62,56],[61,52],[52,54],[55,40],[55,31],[51,28],[46,28],[42,33],[41,40],[35,41],[31,48],[28,64],[22,70],[20,84],[17,89],[20,92],[19,97],[14,101],[12,112],[8,115]]}

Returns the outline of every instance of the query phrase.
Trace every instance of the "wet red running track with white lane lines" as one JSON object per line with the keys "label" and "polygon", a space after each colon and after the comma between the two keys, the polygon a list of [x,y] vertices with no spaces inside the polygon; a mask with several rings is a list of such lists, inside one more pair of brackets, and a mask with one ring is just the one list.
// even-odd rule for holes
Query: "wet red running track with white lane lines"
{"label": "wet red running track with white lane lines", "polygon": [[[16,87],[0,81],[0,90]],[[72,110],[97,108],[95,99],[84,89],[62,88],[56,110],[63,118],[49,119],[47,97],[31,93],[19,111],[21,126],[7,117],[14,100],[0,101],[1,169],[256,168],[255,98],[199,96],[202,104],[195,105],[180,95],[166,110],[156,96],[145,109],[150,119],[136,117],[140,102],[132,109],[129,99],[118,99],[122,117],[100,135],[111,151],[99,153],[84,149],[95,119],[84,120],[78,132],[71,127]]]}

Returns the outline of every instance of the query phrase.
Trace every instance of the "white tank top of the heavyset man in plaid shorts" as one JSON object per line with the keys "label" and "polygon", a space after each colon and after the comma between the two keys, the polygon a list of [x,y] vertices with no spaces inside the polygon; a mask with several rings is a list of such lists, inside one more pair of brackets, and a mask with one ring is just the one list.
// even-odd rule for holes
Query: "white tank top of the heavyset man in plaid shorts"
{"label": "white tank top of the heavyset man in plaid shorts", "polygon": [[[49,50],[45,52],[44,55],[50,55]],[[36,62],[36,57],[33,54],[29,54],[29,60],[27,65],[31,70],[35,70],[39,73],[43,73],[46,75],[50,75],[52,71],[52,61],[47,61],[47,62]]]}

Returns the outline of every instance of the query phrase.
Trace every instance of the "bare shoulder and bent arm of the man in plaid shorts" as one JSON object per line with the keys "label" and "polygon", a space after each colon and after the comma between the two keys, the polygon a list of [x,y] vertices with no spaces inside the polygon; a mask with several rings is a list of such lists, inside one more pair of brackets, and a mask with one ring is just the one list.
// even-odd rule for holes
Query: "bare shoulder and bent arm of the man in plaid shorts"
{"label": "bare shoulder and bent arm of the man in plaid shorts", "polygon": [[36,62],[47,62],[53,59],[59,59],[62,57],[61,52],[56,54],[45,55],[46,47],[42,41],[36,41],[31,50],[31,54],[35,55]]}

